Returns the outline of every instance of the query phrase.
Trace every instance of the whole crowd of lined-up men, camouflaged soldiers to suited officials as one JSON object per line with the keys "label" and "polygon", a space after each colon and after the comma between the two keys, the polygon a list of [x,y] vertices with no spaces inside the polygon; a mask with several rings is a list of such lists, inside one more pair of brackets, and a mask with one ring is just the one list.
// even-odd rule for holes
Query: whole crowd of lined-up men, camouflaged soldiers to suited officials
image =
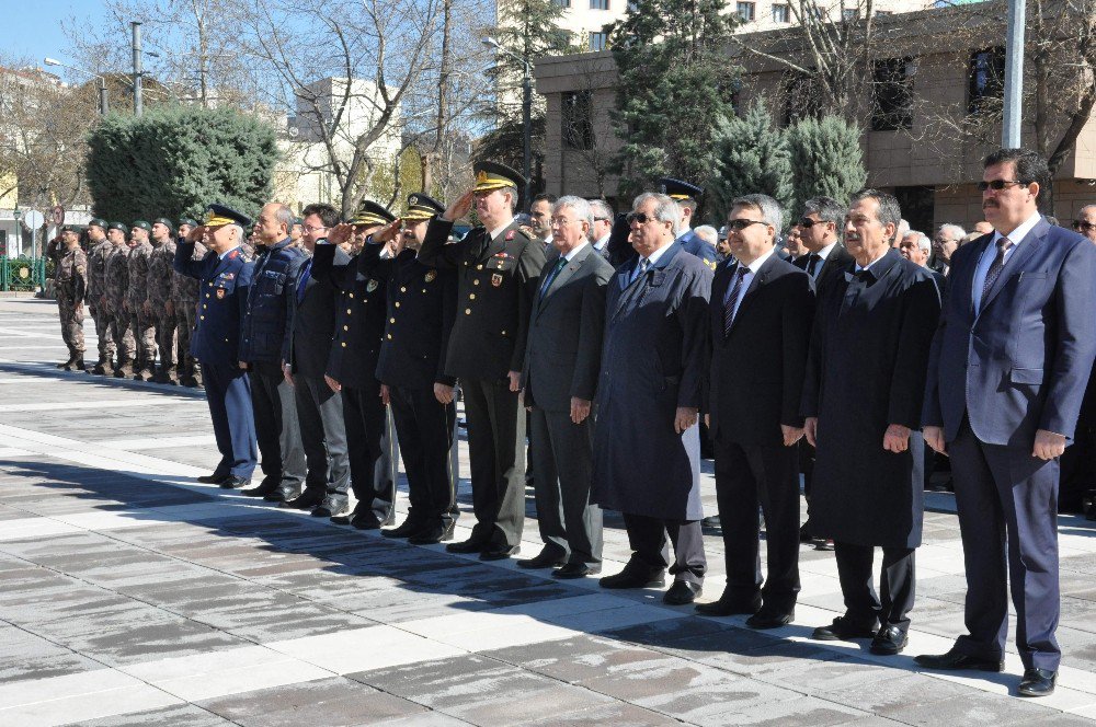
{"label": "whole crowd of lined-up men, camouflaged soldiers to suited officials", "polygon": [[[694,602],[709,447],[727,582],[696,609],[746,615],[753,628],[790,623],[806,530],[834,550],[845,602],[814,638],[870,639],[881,655],[907,644],[926,470],[932,452],[947,454],[969,634],[917,661],[1003,670],[1011,581],[1018,693],[1041,696],[1061,658],[1060,461],[1075,441],[1085,461],[1071,466],[1093,486],[1096,357],[1096,207],[1074,232],[1051,224],[1037,208],[1047,177],[1032,152],[991,154],[985,220],[969,235],[945,224],[931,241],[876,189],[807,200],[786,236],[790,210],[762,194],[734,199],[721,230],[689,229],[701,191],[676,180],[621,216],[541,195],[515,217],[525,180],[480,163],[458,199],[411,195],[399,217],[367,201],[346,222],[323,204],[298,220],[271,203],[252,221],[212,205],[203,224],[180,224],[178,242],[167,220],[136,223],[129,251],[121,226],[96,221],[117,234],[101,243],[113,252],[98,282],[92,250],[88,300],[115,342],[126,331],[144,342],[118,351],[140,374],[152,374],[158,346],[157,373],[170,379],[172,336],[190,338],[221,453],[199,481],[381,529],[395,524],[402,455],[410,509],[383,533],[412,543],[453,538],[459,386],[475,524],[446,549],[516,555],[529,476],[543,547],[517,565],[557,578],[600,574],[610,509],[632,553],[601,586],[662,587],[669,573],[664,602]],[[473,209],[480,224],[456,239]],[[62,281],[89,265],[75,232],[64,244],[62,321],[83,295]],[[168,250],[173,274],[157,262]],[[115,268],[128,287],[111,282]],[[162,282],[176,278],[190,298]],[[79,364],[79,336],[64,327]]]}

